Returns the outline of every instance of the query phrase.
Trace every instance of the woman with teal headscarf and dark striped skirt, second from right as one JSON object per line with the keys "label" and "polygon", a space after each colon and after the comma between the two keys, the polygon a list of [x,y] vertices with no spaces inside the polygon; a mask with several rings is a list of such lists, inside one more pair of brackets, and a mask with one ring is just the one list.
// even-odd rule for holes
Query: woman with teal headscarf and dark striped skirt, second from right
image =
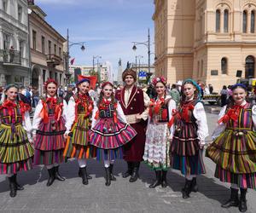
{"label": "woman with teal headscarf and dark striped skirt, second from right", "polygon": [[196,176],[206,173],[202,151],[208,135],[207,115],[201,103],[201,89],[192,79],[183,82],[182,98],[176,112],[172,113],[170,125],[176,129],[171,135],[171,168],[185,176],[183,199],[190,192],[197,192]]}

